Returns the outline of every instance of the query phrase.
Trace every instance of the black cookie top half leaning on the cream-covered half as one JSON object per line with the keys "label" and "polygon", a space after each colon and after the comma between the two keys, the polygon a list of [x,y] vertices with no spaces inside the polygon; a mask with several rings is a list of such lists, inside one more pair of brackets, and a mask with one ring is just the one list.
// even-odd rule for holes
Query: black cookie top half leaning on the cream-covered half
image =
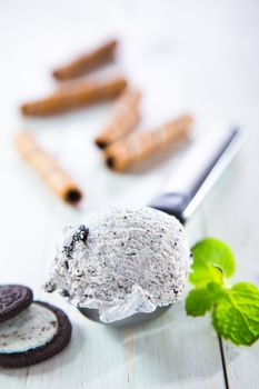
{"label": "black cookie top half leaning on the cream-covered half", "polygon": [[0,286],[0,322],[9,320],[32,302],[32,290],[21,285]]}

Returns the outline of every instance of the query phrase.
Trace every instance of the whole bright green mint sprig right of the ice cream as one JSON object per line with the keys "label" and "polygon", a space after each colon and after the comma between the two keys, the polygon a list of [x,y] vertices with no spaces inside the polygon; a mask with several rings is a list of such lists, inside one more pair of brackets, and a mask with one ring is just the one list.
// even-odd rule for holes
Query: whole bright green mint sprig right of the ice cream
{"label": "whole bright green mint sprig right of the ice cream", "polygon": [[259,338],[259,289],[249,282],[227,286],[235,272],[235,257],[220,240],[203,239],[192,253],[189,281],[195,289],[186,299],[187,315],[197,317],[211,311],[212,325],[222,338],[250,346]]}

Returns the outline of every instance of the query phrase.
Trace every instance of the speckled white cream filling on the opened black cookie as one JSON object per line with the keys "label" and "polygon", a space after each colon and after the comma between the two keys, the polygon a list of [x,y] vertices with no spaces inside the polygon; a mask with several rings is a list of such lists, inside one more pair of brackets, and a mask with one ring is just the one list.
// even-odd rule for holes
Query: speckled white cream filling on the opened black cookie
{"label": "speckled white cream filling on the opened black cookie", "polygon": [[0,323],[0,353],[24,352],[44,346],[57,331],[57,316],[33,302],[17,317]]}

